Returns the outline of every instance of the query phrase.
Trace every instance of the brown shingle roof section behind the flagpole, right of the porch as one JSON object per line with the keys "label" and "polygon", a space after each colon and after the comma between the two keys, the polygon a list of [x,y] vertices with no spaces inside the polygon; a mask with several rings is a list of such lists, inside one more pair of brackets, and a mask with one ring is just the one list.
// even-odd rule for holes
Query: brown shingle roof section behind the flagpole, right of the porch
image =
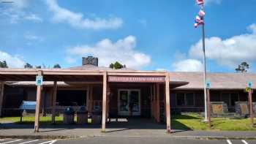
{"label": "brown shingle roof section behind the flagpole, right of the porch", "polygon": [[[256,74],[253,73],[207,73],[211,89],[245,89],[247,82],[256,88]],[[170,72],[170,81],[187,81],[189,84],[176,89],[203,89],[203,72]]]}

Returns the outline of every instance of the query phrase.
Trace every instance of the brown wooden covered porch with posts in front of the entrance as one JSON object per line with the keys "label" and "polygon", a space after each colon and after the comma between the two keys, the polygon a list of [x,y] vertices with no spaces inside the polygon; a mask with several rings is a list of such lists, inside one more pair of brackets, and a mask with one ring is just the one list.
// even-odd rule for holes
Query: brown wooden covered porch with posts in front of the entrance
{"label": "brown wooden covered porch with posts in front of the entrance", "polygon": [[[59,107],[56,106],[57,83],[65,82],[70,84],[67,87],[68,89],[84,88],[86,90],[86,108],[89,113],[96,106],[102,110],[102,132],[105,132],[106,122],[109,123],[107,126],[111,128],[113,123],[122,123],[118,121],[118,118],[134,116],[153,118],[157,122],[166,121],[167,132],[170,132],[170,88],[187,84],[186,82],[171,83],[167,72],[72,69],[0,70],[2,83],[4,81],[34,81],[37,75],[42,75],[45,83],[53,83],[52,107],[50,110],[53,123],[55,122],[56,108]],[[39,114],[42,113],[42,110],[40,110],[42,108],[40,107],[42,88],[44,87],[37,86],[35,132],[39,132]],[[2,88],[2,91],[4,91],[4,88]],[[97,91],[97,94],[95,94],[95,91]],[[132,99],[131,94],[133,99],[137,100],[128,100]],[[136,96],[138,97],[136,98]]]}

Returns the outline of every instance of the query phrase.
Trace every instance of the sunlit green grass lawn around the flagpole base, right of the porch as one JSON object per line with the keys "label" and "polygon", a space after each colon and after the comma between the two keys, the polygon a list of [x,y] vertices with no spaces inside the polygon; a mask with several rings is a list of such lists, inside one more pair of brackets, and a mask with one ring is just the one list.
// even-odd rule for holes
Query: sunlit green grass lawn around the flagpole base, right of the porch
{"label": "sunlit green grass lawn around the flagpole base, right of the porch", "polygon": [[[195,114],[174,115],[171,124],[173,129],[210,130],[208,124],[202,121],[203,118]],[[211,126],[211,130],[222,131],[256,130],[256,127],[252,128],[249,118],[211,118]]]}

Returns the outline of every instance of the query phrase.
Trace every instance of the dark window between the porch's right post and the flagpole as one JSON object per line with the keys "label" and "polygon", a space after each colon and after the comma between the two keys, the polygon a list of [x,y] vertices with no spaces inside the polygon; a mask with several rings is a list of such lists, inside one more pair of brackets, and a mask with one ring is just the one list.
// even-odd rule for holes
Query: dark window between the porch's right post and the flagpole
{"label": "dark window between the porch's right post and the flagpole", "polygon": [[177,93],[176,94],[176,105],[178,105],[178,106],[195,105],[194,93]]}

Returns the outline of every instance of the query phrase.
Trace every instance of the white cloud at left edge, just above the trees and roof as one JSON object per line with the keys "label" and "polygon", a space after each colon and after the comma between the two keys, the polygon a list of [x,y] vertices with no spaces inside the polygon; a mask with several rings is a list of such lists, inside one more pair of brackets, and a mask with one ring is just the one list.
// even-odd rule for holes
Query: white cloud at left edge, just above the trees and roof
{"label": "white cloud at left edge, just above the trees and roof", "polygon": [[0,50],[0,61],[7,61],[8,67],[23,67],[25,62],[19,56],[11,56]]}

